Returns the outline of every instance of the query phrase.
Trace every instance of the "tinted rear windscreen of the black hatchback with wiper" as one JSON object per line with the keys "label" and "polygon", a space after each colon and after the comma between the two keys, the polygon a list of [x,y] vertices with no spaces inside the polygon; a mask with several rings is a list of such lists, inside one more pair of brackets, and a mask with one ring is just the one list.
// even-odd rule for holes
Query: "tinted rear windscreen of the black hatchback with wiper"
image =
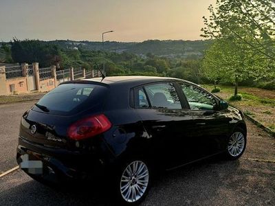
{"label": "tinted rear windscreen of the black hatchback with wiper", "polygon": [[106,92],[107,88],[98,84],[61,84],[44,95],[35,110],[43,111],[43,106],[48,113],[72,115],[102,104]]}

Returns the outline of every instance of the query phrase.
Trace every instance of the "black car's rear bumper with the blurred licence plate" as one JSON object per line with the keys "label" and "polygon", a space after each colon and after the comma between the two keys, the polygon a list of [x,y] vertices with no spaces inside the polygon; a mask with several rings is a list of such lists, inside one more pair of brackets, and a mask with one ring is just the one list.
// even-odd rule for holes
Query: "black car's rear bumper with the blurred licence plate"
{"label": "black car's rear bumper with the blurred licence plate", "polygon": [[23,165],[26,157],[28,157],[28,161],[41,161],[43,167],[42,169],[38,168],[39,170],[21,167],[30,176],[47,176],[47,178],[52,176],[54,179],[65,181],[94,180],[107,172],[107,168],[109,168],[104,158],[100,158],[92,152],[81,153],[45,148],[19,137],[17,163]]}

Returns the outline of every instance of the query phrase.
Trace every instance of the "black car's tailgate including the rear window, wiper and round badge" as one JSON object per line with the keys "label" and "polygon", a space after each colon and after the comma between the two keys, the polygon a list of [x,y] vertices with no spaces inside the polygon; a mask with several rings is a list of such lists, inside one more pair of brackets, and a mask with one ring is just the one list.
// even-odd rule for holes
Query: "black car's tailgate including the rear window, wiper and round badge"
{"label": "black car's tailgate including the rear window, wiper and round badge", "polygon": [[69,148],[67,129],[83,117],[102,112],[107,87],[98,84],[61,84],[47,93],[21,119],[23,139],[51,148]]}

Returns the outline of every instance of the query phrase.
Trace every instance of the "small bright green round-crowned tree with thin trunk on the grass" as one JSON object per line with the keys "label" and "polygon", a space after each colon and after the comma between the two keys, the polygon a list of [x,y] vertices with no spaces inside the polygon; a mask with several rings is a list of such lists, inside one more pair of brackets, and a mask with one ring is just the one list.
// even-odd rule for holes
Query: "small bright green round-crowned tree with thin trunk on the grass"
{"label": "small bright green round-crowned tree with thin trunk on the grass", "polygon": [[239,82],[252,78],[261,80],[268,75],[268,60],[263,54],[254,54],[248,45],[235,45],[231,40],[216,41],[203,59],[203,74],[210,80],[230,80],[238,93]]}

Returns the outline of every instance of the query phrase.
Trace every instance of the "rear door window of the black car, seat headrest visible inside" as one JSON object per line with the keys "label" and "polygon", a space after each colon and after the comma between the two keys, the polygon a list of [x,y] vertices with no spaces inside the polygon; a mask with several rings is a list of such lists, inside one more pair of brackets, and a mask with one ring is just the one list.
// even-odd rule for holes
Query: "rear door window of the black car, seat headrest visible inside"
{"label": "rear door window of the black car, seat headrest visible inside", "polygon": [[144,87],[152,107],[181,108],[179,96],[172,83],[151,84]]}

